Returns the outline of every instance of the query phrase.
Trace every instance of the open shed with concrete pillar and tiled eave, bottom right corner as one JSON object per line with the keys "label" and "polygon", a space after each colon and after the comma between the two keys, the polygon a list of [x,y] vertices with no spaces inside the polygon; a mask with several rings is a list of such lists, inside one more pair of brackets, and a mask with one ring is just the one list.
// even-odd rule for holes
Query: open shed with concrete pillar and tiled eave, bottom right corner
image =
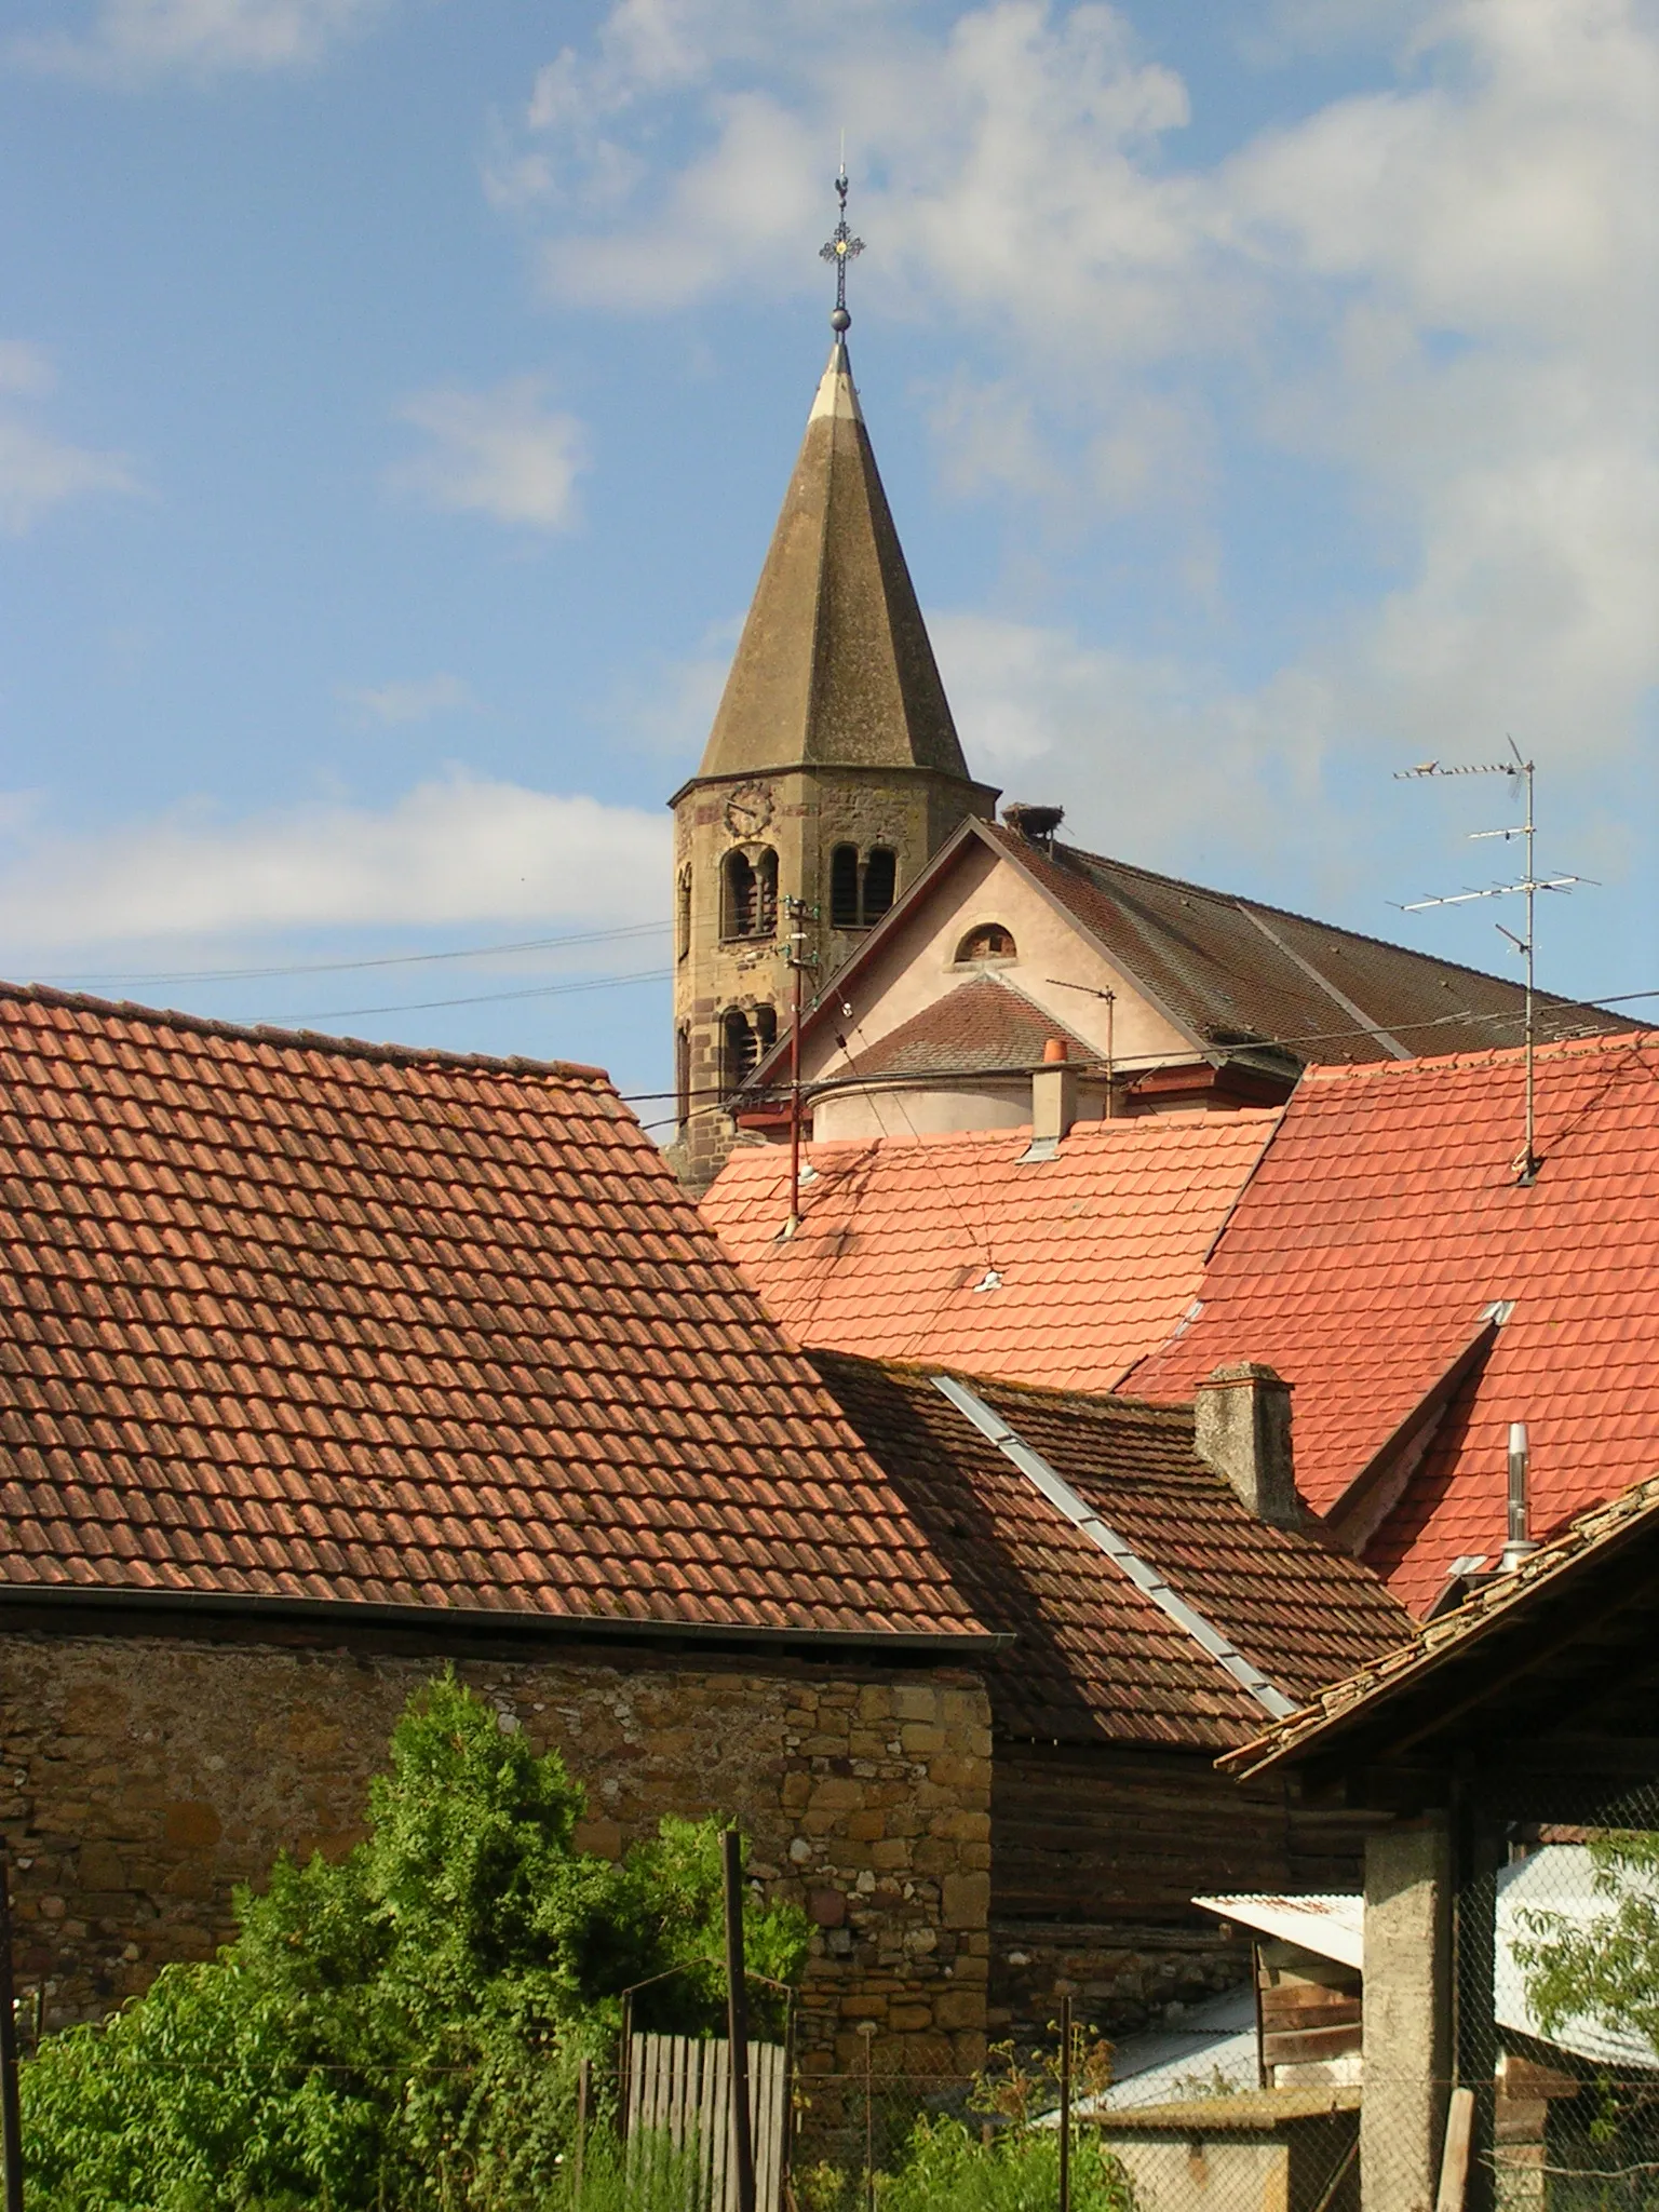
{"label": "open shed with concrete pillar and tiled eave, bottom right corner", "polygon": [[1648,1475],[1221,1759],[1369,1829],[1365,2212],[1652,2172],[1655,1697]]}

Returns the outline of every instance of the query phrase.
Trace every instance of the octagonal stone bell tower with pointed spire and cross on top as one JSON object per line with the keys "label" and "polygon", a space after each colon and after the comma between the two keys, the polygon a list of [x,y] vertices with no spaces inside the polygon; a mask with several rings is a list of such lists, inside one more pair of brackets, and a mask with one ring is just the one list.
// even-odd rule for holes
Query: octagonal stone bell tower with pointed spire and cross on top
{"label": "octagonal stone bell tower with pointed spire and cross on top", "polygon": [[847,179],[830,365],[726,679],[675,810],[672,1159],[701,1190],[730,1102],[790,1020],[785,900],[807,907],[807,1004],[967,814],[969,776],[847,361]]}

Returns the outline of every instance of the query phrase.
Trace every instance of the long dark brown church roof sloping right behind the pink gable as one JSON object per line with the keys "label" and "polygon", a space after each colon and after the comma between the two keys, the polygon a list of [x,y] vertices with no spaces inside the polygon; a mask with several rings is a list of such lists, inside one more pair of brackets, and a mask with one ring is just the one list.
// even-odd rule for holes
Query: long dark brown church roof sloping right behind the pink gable
{"label": "long dark brown church roof sloping right behind the pink gable", "polygon": [[[1044,849],[1002,825],[980,834],[1035,876],[1199,1042],[1270,1040],[1316,1066],[1520,1042],[1517,982],[1075,845]],[[1632,1026],[1546,993],[1537,1022],[1542,1037]]]}

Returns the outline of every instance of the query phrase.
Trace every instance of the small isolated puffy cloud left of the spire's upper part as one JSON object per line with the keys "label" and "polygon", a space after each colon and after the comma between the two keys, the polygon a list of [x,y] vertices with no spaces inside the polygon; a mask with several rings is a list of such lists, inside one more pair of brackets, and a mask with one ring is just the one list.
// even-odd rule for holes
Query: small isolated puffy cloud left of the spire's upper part
{"label": "small isolated puffy cloud left of the spire's upper part", "polygon": [[515,376],[489,392],[422,392],[398,414],[431,438],[425,453],[392,471],[398,489],[522,529],[562,531],[575,522],[586,434],[575,416],[546,405],[540,378]]}

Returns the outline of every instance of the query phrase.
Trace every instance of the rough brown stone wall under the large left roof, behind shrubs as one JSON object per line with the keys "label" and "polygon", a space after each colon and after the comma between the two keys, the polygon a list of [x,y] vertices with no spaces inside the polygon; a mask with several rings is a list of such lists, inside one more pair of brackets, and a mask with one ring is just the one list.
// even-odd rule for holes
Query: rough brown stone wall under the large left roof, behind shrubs
{"label": "rough brown stone wall under the large left roof, behind shrubs", "polygon": [[[0,1825],[18,1975],[46,2026],[100,2017],[234,1933],[279,1847],[343,1854],[409,1697],[440,1668],[159,1635],[0,1637]],[[971,1674],[648,1652],[471,1657],[502,1730],[586,1783],[580,1843],[737,1814],[752,1874],[814,1922],[801,2057],[964,2073],[984,2051],[991,1732]]]}

